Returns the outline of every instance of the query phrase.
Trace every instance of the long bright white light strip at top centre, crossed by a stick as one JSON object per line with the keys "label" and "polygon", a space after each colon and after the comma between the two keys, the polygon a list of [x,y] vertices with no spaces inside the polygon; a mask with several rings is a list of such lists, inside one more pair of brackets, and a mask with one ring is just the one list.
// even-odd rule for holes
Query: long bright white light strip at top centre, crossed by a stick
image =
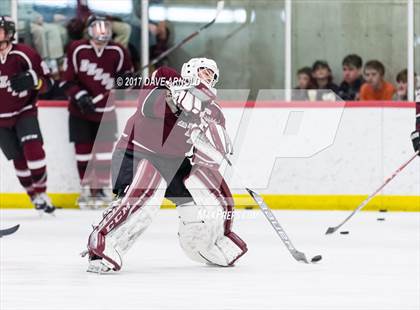
{"label": "long bright white light strip at top centre, crossed by a stick", "polygon": [[[215,8],[195,8],[195,7],[163,7],[151,6],[149,8],[150,20],[169,20],[172,22],[183,23],[202,23],[206,22],[216,13]],[[245,9],[224,9],[216,20],[216,23],[245,23]]]}

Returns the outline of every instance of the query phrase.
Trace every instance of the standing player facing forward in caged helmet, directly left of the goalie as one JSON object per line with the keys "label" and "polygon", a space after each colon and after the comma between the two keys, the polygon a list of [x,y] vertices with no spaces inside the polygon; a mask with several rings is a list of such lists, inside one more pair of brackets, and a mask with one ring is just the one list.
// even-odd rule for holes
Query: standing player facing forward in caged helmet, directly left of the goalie
{"label": "standing player facing forward in caged helmet, directly left of the goalie", "polygon": [[[103,189],[109,187],[117,132],[115,106],[111,99],[108,100],[109,91],[117,74],[132,70],[127,50],[111,41],[108,20],[92,15],[87,21],[87,29],[89,39],[75,41],[68,49],[61,83],[70,101],[70,142],[75,146],[82,187],[78,201],[81,208],[100,206],[107,200]],[[100,124],[101,134],[97,135]],[[91,160],[89,175],[87,167]]]}

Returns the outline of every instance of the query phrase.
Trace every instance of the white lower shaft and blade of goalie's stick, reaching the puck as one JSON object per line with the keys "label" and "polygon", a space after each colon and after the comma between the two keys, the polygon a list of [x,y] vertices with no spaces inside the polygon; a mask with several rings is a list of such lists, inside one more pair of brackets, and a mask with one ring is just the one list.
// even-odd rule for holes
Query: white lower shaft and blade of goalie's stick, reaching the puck
{"label": "white lower shaft and blade of goalie's stick, reaching the puck", "polygon": [[322,259],[321,255],[316,255],[312,257],[311,261],[308,261],[308,259],[306,258],[306,255],[296,250],[296,248],[293,246],[292,241],[289,239],[286,232],[284,231],[284,229],[281,227],[280,223],[277,221],[276,217],[274,216],[273,212],[265,203],[264,199],[260,195],[258,195],[256,192],[250,190],[249,188],[245,188],[245,189],[255,200],[257,205],[260,207],[261,211],[263,211],[265,217],[270,222],[271,226],[274,228],[277,235],[280,237],[281,241],[283,241],[286,248],[289,250],[290,254],[292,254],[294,259],[296,259],[298,262],[303,262],[305,264],[316,263]]}

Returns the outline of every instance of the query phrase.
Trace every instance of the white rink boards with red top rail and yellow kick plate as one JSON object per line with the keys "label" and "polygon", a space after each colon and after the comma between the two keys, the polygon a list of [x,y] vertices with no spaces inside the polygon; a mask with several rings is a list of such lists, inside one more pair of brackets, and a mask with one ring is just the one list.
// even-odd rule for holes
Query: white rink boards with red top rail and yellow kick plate
{"label": "white rink boards with red top rail and yellow kick plate", "polygon": [[[247,186],[275,209],[348,210],[379,187],[412,154],[414,104],[404,102],[222,102],[234,140],[236,176],[227,175],[238,207],[252,206]],[[119,130],[133,113],[117,109]],[[74,208],[78,179],[68,142],[65,102],[40,102],[39,118],[54,202]],[[3,155],[0,208],[30,207]],[[416,159],[367,207],[420,211],[420,160]],[[231,173],[232,174],[232,173]],[[231,177],[231,178],[229,178]],[[164,207],[173,207],[168,202]]]}

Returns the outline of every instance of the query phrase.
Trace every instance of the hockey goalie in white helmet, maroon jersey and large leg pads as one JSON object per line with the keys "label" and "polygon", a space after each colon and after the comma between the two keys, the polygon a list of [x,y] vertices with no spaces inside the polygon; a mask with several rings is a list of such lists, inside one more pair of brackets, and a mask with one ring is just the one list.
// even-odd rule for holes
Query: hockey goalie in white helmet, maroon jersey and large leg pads
{"label": "hockey goalie in white helmet, maroon jersey and large leg pads", "polygon": [[216,63],[206,58],[191,59],[181,74],[168,67],[153,73],[157,83],[141,91],[113,153],[116,198],[89,236],[88,271],[120,270],[164,197],[176,204],[179,242],[190,259],[233,266],[247,252],[232,219],[209,216],[234,208],[219,172],[232,145],[215,102],[218,77]]}

